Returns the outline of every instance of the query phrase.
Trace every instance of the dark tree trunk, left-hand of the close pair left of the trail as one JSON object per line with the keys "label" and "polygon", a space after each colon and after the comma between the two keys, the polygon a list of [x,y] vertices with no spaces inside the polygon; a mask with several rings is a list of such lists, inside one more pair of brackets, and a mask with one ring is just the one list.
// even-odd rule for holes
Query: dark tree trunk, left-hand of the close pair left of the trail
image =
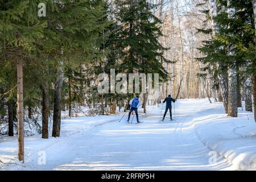
{"label": "dark tree trunk, left-hand of the close pair left of the trail", "polygon": [[49,122],[49,85],[46,82],[43,86],[43,112],[42,112],[42,138],[48,138]]}

